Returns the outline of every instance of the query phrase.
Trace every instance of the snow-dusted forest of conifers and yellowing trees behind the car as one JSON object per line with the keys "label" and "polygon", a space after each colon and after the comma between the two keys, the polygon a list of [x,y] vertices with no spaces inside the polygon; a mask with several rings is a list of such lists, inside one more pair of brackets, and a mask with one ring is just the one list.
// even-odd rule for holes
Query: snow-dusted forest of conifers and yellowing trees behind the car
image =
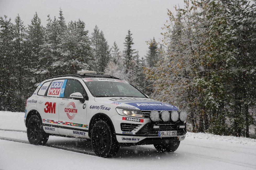
{"label": "snow-dusted forest of conifers and yellowing trees behind the car", "polygon": [[62,10],[46,26],[37,13],[27,27],[19,15],[1,16],[0,110],[24,111],[51,76],[93,70],[186,110],[190,131],[255,137],[256,1],[184,2],[167,11],[163,39],[145,42],[146,56],[130,30],[120,51],[97,26],[89,33],[81,20],[66,22]]}

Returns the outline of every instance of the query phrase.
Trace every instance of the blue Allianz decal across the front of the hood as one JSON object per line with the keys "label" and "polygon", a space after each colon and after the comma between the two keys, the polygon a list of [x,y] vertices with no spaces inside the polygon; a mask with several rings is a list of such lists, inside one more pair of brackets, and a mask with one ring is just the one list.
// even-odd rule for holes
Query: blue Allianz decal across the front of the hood
{"label": "blue Allianz decal across the front of the hood", "polygon": [[128,102],[125,104],[135,106],[140,110],[178,110],[177,107],[162,102]]}

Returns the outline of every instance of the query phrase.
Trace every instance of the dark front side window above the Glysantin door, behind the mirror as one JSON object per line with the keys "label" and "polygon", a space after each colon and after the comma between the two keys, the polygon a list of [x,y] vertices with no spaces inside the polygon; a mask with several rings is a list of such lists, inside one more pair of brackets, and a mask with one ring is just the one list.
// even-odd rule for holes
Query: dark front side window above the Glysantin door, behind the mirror
{"label": "dark front side window above the Glysantin door, behind the mirror", "polygon": [[83,97],[87,95],[84,87],[79,81],[69,79],[66,84],[64,98],[69,99],[70,94],[76,93],[76,92],[81,93]]}

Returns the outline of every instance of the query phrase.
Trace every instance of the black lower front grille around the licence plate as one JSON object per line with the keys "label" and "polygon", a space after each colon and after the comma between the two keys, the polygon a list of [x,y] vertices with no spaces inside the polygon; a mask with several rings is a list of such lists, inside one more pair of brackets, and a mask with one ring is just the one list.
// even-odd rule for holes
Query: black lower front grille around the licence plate
{"label": "black lower front grille around the licence plate", "polygon": [[[159,128],[153,128],[155,126],[159,126]],[[148,123],[144,125],[136,134],[138,135],[152,135],[152,136],[158,136],[159,131],[172,131],[176,130],[177,135],[183,135],[186,133],[186,129],[180,129],[179,124],[152,124]]]}

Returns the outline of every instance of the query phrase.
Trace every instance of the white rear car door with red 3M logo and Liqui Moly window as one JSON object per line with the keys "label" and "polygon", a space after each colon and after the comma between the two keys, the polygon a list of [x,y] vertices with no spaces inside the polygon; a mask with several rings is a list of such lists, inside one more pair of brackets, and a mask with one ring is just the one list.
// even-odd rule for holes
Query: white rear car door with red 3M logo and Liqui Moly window
{"label": "white rear car door with red 3M logo and Liqui Moly window", "polygon": [[63,88],[65,80],[53,80],[44,83],[38,95],[43,94],[38,100],[37,108],[42,117],[43,129],[47,133],[59,134],[58,132],[58,120],[59,120],[59,96],[60,91]]}

